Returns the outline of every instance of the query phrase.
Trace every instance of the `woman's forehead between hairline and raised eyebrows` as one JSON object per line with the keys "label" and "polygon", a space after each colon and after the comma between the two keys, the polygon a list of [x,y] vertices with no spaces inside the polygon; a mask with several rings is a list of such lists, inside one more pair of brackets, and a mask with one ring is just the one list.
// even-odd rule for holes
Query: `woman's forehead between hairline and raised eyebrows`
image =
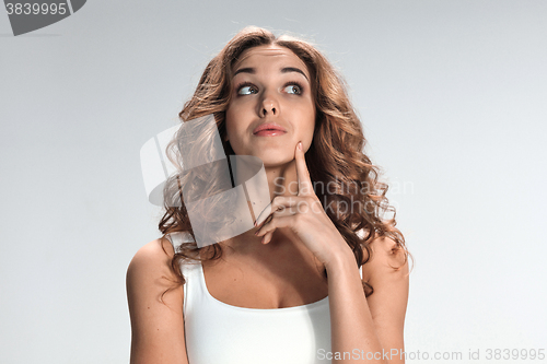
{"label": "woman's forehead between hairline and raised eyebrows", "polygon": [[240,68],[267,68],[277,66],[299,67],[310,79],[306,64],[289,48],[276,45],[257,46],[245,50],[234,63],[233,71]]}

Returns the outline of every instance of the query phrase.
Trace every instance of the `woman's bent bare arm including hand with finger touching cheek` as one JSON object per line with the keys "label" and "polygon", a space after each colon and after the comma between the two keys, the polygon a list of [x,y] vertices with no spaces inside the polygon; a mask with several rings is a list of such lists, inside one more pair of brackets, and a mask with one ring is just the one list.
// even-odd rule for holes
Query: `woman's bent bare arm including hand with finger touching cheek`
{"label": "woman's bent bare arm including hand with finger touching cheek", "polygon": [[271,219],[263,220],[260,214],[257,218],[260,227],[255,235],[264,235],[263,243],[268,244],[276,228],[289,227],[324,265],[328,277],[333,363],[404,363],[400,356],[384,355],[386,351],[392,353],[391,350],[398,350],[400,355],[403,350],[408,266],[395,271],[389,265],[400,266],[404,256],[392,254],[395,242],[391,239],[376,238],[371,243],[373,257],[363,267],[363,278],[366,277],[375,292],[365,298],[356,257],[314,192],[301,142],[296,144],[294,158],[298,195],[276,196],[270,204]]}

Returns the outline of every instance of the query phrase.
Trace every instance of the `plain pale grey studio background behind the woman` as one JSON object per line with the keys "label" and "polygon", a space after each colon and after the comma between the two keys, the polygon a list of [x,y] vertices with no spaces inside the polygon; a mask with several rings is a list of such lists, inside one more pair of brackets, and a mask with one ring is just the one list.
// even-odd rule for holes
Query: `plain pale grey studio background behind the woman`
{"label": "plain pale grey studio background behind the woman", "polygon": [[161,216],[139,150],[245,25],[313,39],[349,83],[416,258],[407,351],[547,348],[546,15],[523,0],[96,0],[13,37],[1,10],[0,362],[128,361],[125,273]]}

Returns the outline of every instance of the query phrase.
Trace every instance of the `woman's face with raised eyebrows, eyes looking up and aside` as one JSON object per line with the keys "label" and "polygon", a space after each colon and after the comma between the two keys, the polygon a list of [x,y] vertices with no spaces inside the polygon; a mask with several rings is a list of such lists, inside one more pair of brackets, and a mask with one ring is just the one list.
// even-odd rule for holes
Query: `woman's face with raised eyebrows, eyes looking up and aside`
{"label": "woman's face with raised eyebrows, eyes looking up and aside", "polygon": [[225,122],[235,154],[257,156],[268,167],[291,162],[299,141],[306,151],[315,104],[305,63],[288,48],[258,46],[242,54],[233,74]]}

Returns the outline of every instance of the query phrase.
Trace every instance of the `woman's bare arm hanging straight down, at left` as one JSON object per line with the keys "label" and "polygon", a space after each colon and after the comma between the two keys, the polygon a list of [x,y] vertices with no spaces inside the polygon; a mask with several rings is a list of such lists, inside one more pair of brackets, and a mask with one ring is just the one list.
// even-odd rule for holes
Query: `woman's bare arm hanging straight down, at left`
{"label": "woman's bare arm hanging straight down, at left", "polygon": [[188,364],[183,286],[167,291],[161,301],[175,281],[170,265],[173,255],[171,243],[156,239],[139,249],[127,269],[131,364]]}

